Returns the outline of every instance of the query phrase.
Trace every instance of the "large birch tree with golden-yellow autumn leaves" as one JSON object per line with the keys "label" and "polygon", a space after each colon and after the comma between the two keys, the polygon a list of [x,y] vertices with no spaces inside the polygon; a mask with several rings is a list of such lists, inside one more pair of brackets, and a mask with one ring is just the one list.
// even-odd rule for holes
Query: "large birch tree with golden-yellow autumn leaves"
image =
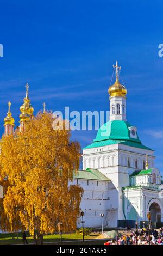
{"label": "large birch tree with golden-yellow autumn leaves", "polygon": [[52,113],[38,113],[24,132],[16,131],[1,142],[1,227],[29,230],[38,244],[43,234],[57,231],[59,222],[64,231],[76,229],[83,194],[72,184],[80,145],[70,141],[70,130],[53,130],[53,120]]}

